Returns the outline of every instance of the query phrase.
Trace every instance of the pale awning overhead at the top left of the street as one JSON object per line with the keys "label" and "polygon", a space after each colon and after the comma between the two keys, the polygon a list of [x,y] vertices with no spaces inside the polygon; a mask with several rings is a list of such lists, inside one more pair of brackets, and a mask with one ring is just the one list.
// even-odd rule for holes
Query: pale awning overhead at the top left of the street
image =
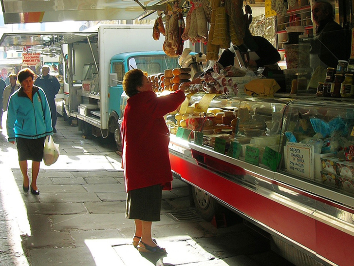
{"label": "pale awning overhead at the top left of the street", "polygon": [[[1,0],[5,24],[65,20],[135,20],[168,0]],[[152,11],[151,11],[152,10]]]}

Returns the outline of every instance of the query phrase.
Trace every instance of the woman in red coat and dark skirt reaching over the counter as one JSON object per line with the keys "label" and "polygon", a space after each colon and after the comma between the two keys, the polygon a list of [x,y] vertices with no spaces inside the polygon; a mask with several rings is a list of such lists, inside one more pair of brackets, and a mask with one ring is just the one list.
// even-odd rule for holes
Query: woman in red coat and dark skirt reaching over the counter
{"label": "woman in red coat and dark skirt reaching over the counter", "polygon": [[129,96],[122,123],[126,218],[134,219],[133,245],[141,252],[166,252],[152,240],[152,222],[160,221],[162,189],[171,189],[169,131],[164,115],[185,100],[183,91],[157,97],[140,69],[124,75]]}

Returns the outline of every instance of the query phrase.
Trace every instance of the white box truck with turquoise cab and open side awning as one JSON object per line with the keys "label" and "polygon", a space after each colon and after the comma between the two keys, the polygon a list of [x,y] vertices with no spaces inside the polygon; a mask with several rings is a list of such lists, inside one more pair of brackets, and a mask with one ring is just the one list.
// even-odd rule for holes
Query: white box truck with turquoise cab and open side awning
{"label": "white box truck with turquoise cab and open side awning", "polygon": [[[58,110],[77,119],[85,135],[107,137],[114,133],[120,148],[118,119],[124,74],[140,68],[148,74],[178,67],[177,58],[162,52],[165,38],[152,38],[153,25],[99,25],[82,32],[4,33],[0,46],[49,48],[63,61],[64,100]],[[18,41],[20,36],[20,42]],[[47,47],[47,48],[46,48]]]}

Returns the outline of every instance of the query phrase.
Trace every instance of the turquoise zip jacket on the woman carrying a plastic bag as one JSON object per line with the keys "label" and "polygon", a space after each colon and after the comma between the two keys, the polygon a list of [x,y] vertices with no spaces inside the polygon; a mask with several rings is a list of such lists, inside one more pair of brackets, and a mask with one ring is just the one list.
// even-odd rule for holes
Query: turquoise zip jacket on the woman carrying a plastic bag
{"label": "turquoise zip jacket on the woman carrying a plastic bag", "polygon": [[52,119],[44,91],[33,86],[33,102],[20,87],[11,95],[7,109],[8,141],[38,139],[53,135]]}

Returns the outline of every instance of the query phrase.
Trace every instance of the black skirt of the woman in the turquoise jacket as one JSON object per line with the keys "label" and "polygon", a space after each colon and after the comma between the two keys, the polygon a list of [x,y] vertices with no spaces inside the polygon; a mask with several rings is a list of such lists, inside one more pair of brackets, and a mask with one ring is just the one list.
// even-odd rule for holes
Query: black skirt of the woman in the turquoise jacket
{"label": "black skirt of the woman in the turquoise jacket", "polygon": [[39,139],[16,138],[19,161],[32,160],[41,162],[43,159],[45,137]]}

